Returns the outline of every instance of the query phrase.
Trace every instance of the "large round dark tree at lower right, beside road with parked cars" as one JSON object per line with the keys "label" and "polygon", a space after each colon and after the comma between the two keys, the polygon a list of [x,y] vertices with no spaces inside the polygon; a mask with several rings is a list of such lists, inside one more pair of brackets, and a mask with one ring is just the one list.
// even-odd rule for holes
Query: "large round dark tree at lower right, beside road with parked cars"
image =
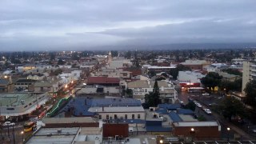
{"label": "large round dark tree at lower right, beside road with parked cars", "polygon": [[242,117],[245,114],[245,107],[242,102],[233,97],[226,97],[218,106],[219,112],[230,121],[234,117]]}

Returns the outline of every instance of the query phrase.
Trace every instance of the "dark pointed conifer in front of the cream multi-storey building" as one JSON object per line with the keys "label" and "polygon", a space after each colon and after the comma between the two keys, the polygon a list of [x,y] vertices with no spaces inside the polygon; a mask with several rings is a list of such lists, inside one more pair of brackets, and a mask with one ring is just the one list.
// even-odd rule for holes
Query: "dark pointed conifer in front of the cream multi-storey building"
{"label": "dark pointed conifer in front of the cream multi-storey building", "polygon": [[158,81],[154,82],[154,88],[153,91],[149,94],[145,95],[146,100],[146,106],[158,106],[159,103],[161,103],[160,100],[160,92],[158,87]]}

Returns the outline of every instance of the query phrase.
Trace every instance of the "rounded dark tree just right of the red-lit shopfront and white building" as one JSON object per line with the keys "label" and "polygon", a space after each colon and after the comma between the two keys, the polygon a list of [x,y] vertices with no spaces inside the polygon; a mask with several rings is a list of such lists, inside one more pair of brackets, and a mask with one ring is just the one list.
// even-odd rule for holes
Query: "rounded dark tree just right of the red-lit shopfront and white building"
{"label": "rounded dark tree just right of the red-lit shopfront and white building", "polygon": [[214,90],[215,86],[219,86],[221,81],[222,76],[214,72],[208,73],[205,78],[201,79],[202,84],[206,87],[209,87],[210,90]]}

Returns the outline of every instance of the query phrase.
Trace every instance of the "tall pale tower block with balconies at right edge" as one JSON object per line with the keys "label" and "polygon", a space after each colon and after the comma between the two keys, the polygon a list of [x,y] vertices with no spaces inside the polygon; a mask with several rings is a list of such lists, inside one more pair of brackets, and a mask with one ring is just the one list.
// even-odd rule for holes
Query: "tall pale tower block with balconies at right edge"
{"label": "tall pale tower block with balconies at right edge", "polygon": [[244,61],[242,66],[242,93],[246,84],[251,80],[256,80],[256,59],[254,61]]}

